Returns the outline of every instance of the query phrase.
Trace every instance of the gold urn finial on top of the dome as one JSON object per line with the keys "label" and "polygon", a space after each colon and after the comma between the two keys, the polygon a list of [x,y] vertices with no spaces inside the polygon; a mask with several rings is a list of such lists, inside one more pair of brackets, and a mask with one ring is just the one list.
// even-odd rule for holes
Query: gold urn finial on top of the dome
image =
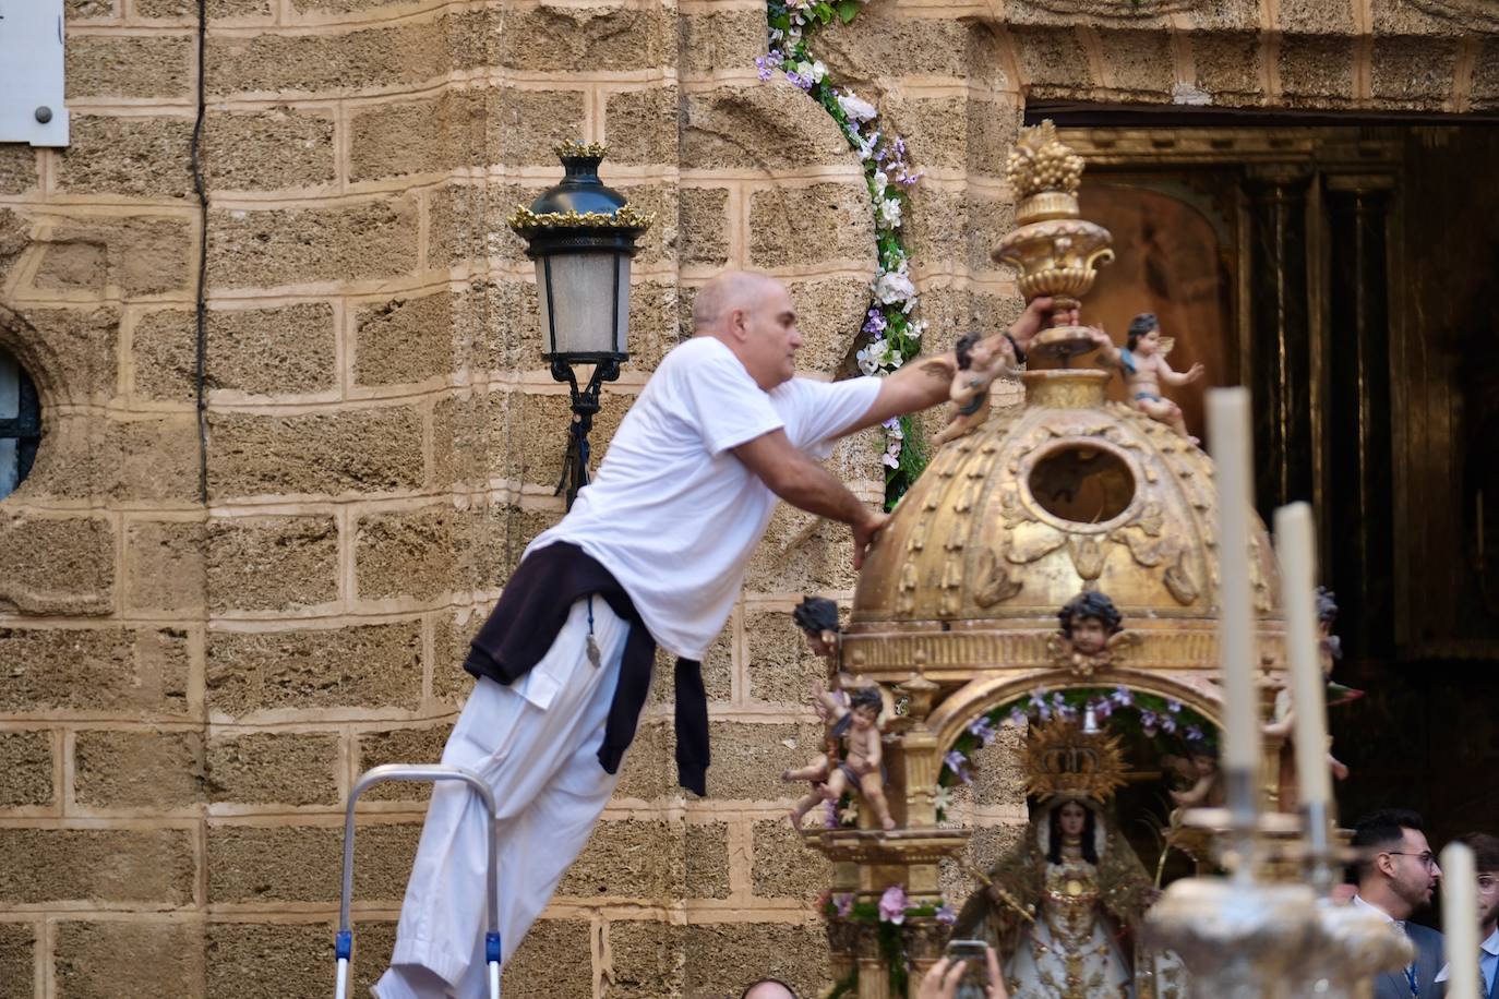
{"label": "gold urn finial on top of the dome", "polygon": [[1114,259],[1109,231],[1078,217],[1082,157],[1057,138],[1048,120],[1021,129],[1004,174],[1019,199],[1015,220],[1021,228],[1000,240],[994,259],[1019,271],[1025,301],[1054,300],[1052,328],[1036,337],[1031,352],[1066,359],[1093,350],[1091,333],[1061,319],[1079,307],[1097,268]]}

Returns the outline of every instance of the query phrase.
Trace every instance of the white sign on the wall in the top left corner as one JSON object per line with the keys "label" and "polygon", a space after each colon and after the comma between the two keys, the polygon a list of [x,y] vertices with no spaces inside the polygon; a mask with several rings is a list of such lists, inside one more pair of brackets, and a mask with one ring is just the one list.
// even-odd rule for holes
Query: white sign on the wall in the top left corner
{"label": "white sign on the wall in the top left corner", "polygon": [[67,145],[63,0],[0,0],[0,142]]}

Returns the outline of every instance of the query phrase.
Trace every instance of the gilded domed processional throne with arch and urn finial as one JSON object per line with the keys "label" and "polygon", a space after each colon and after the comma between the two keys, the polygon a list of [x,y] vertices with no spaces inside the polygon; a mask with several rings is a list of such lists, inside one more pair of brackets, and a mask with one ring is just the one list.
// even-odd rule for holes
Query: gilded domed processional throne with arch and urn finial
{"label": "gilded domed processional throne with arch and urn finial", "polygon": [[[1049,123],[1028,129],[1009,168],[1021,226],[995,252],[1019,271],[1027,300],[1054,297],[1058,321],[1112,256],[1109,234],[1078,217],[1081,169]],[[1072,725],[1105,740],[1126,717],[1136,729],[1207,729],[1198,737],[1208,743],[1222,726],[1213,463],[1166,425],[1106,401],[1109,371],[1072,367],[1096,346],[1079,327],[1040,333],[1024,406],[937,451],[859,575],[842,666],[898,705],[884,744],[896,828],[878,830],[862,809],[857,827],[803,833],[833,861],[833,972],[859,999],[902,987],[892,957],[910,962],[910,995],[940,957],[940,864],[964,851],[967,831],[938,813],[965,746],[1022,714],[1033,732]],[[1283,619],[1258,520],[1252,533],[1268,717],[1283,686]],[[1079,593],[1106,595],[1123,614],[1124,631],[1102,652],[1079,655],[1058,635],[1058,608]],[[1267,758],[1280,741],[1267,738]],[[1277,770],[1267,761],[1265,774]],[[1265,795],[1273,806],[1276,789]],[[898,926],[871,918],[892,888],[902,893]]]}

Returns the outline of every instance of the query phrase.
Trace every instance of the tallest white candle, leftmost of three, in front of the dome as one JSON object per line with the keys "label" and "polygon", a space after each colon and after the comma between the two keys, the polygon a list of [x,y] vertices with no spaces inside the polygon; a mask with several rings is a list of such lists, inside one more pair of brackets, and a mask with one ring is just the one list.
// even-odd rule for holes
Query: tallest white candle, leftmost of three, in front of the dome
{"label": "tallest white candle, leftmost of three, in front of the dome", "polygon": [[1255,686],[1255,608],[1249,574],[1250,467],[1249,389],[1207,394],[1208,442],[1219,487],[1219,664],[1226,701],[1223,768],[1253,774],[1259,785],[1259,690]]}

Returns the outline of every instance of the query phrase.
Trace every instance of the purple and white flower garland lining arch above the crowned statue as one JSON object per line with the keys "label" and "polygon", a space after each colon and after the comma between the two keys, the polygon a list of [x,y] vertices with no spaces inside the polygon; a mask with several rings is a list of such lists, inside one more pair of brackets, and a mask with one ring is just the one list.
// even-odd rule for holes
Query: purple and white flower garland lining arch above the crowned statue
{"label": "purple and white flower garland lining arch above the crowned statue", "polygon": [[941,773],[937,774],[937,810],[946,812],[952,804],[947,791],[953,783],[973,783],[973,753],[989,746],[1000,735],[1004,722],[1049,722],[1052,717],[1075,722],[1093,711],[1099,722],[1114,719],[1112,728],[1120,732],[1156,740],[1162,735],[1186,743],[1189,750],[1211,749],[1214,726],[1205,717],[1171,698],[1154,693],[1138,693],[1129,687],[1103,687],[1052,690],[1037,687],[1028,695],[980,714],[968,723],[964,732],[943,756]]}

